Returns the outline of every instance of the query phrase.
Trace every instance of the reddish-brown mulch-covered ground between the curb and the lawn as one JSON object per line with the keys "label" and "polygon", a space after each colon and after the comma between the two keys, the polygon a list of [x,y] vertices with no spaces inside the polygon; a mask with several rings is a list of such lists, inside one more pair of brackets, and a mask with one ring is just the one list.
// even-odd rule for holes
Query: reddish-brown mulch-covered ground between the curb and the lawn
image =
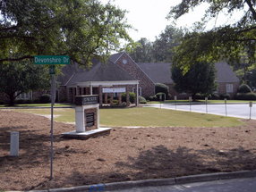
{"label": "reddish-brown mulch-covered ground between the curb and the lawn", "polygon": [[[256,121],[237,128],[115,128],[88,140],[64,139],[55,123],[54,179],[49,181],[50,121],[0,111],[0,190],[60,188],[134,179],[256,169]],[[10,131],[20,156],[10,157]]]}

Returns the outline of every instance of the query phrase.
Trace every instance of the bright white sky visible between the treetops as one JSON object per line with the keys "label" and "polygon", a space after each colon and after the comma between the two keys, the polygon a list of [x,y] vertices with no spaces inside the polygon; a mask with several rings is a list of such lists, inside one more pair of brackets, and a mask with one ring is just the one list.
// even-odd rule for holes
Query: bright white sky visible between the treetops
{"label": "bright white sky visible between the treetops", "polygon": [[[107,3],[109,0],[101,0]],[[129,34],[133,40],[137,41],[141,38],[148,38],[154,41],[158,35],[166,29],[166,26],[172,24],[172,21],[166,19],[171,6],[179,4],[181,0],[112,0],[122,10],[126,10],[126,18],[134,29]],[[195,8],[192,13],[184,15],[176,22],[177,27],[191,28],[195,21],[201,21],[201,17],[207,9],[208,4],[201,4]],[[225,15],[220,15],[218,20],[210,21],[208,28],[220,25],[226,21]]]}

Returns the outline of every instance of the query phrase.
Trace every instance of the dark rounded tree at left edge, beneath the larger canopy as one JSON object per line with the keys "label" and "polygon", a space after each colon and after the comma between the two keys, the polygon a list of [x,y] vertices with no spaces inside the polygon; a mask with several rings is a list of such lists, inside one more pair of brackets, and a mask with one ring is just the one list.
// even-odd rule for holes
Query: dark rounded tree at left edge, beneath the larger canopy
{"label": "dark rounded tree at left edge, beneath the larger canopy", "polygon": [[49,88],[49,75],[45,66],[28,61],[0,64],[0,93],[9,97],[9,104],[21,93]]}

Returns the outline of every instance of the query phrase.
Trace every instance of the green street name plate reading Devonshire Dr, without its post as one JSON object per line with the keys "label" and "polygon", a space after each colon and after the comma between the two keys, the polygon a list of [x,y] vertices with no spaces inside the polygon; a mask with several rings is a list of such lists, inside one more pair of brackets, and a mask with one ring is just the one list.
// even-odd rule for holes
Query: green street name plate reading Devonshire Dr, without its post
{"label": "green street name plate reading Devonshire Dr, without its post", "polygon": [[67,55],[36,55],[35,64],[70,64],[70,58]]}

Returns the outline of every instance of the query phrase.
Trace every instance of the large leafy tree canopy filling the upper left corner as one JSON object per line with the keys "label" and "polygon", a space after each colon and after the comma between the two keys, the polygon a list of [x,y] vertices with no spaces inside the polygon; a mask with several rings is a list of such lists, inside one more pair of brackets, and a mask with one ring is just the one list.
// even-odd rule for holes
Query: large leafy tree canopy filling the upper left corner
{"label": "large leafy tree canopy filling the upper left corner", "polygon": [[131,42],[125,12],[98,0],[2,0],[0,63],[32,59],[37,54],[68,54],[88,64]]}

